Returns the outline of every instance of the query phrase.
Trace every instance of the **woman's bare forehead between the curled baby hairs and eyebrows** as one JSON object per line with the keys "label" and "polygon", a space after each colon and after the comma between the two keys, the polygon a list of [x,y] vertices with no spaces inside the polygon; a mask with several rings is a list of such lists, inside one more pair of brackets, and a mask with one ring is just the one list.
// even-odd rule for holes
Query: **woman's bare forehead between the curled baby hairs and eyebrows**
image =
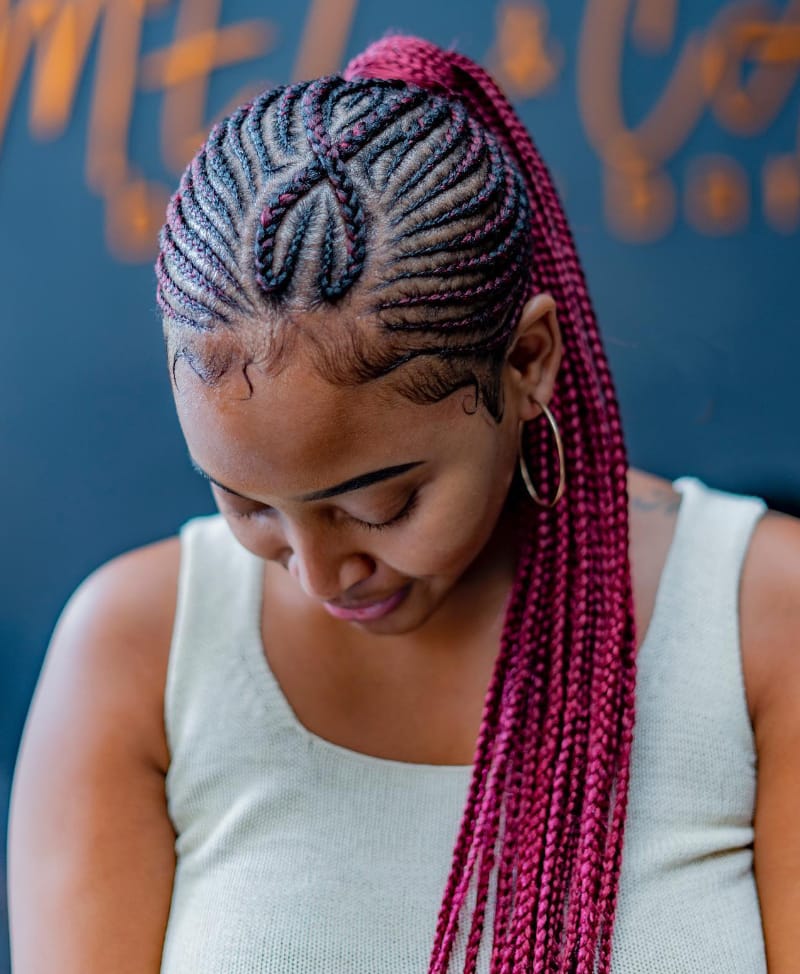
{"label": "woman's bare forehead between the curled baby hairs and eyebrows", "polygon": [[[386,380],[337,386],[305,361],[277,374],[256,365],[209,386],[182,360],[175,401],[189,452],[243,494],[292,496],[364,471],[469,449],[484,422],[463,395],[419,405]],[[467,439],[465,439],[465,437]]]}

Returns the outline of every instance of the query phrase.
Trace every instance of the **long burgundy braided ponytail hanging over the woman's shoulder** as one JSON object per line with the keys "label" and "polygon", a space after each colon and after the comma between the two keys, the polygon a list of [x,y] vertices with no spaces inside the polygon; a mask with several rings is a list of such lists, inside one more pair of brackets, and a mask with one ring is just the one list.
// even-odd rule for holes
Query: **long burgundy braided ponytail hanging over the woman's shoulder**
{"label": "long burgundy braided ponytail hanging over the woman's shoulder", "polygon": [[[628,792],[635,632],[627,459],[583,271],[547,169],[485,71],[425,41],[391,37],[351,62],[345,77],[401,79],[457,99],[500,139],[526,181],[530,290],[555,299],[565,349],[550,408],[563,433],[568,494],[531,519],[430,974],[448,970],[471,885],[464,971],[475,971],[498,840],[492,974],[604,974]],[[555,489],[548,437],[543,423],[526,430],[526,455],[545,493]]]}

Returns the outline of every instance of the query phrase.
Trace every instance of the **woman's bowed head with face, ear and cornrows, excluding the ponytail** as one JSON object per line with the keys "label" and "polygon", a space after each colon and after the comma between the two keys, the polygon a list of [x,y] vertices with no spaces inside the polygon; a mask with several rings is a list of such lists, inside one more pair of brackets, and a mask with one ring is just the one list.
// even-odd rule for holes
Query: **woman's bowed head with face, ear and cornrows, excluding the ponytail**
{"label": "woman's bowed head with face, ear and cornrows, excluding the ponytail", "polygon": [[[318,599],[371,601],[416,579],[405,624],[433,611],[491,534],[519,422],[552,391],[552,300],[539,295],[521,320],[530,251],[524,180],[458,101],[397,81],[324,78],[266,92],[214,129],[170,204],[159,301],[190,451],[266,515],[240,517],[242,499],[217,489],[247,547],[290,565]],[[459,390],[465,415],[437,424]],[[214,440],[215,405],[231,396],[240,401]],[[248,427],[257,437],[243,451]],[[444,463],[454,434],[458,470]],[[277,463],[281,443],[292,462]],[[259,456],[269,464],[254,478]],[[424,477],[425,490],[402,530],[343,530],[343,509],[368,507],[377,488],[292,506],[314,487],[416,456],[431,460],[406,478]],[[430,502],[441,484],[456,485],[439,501],[445,517]],[[300,534],[334,519],[324,545],[321,531]],[[437,536],[447,543],[432,544]],[[427,598],[416,598],[422,588]]]}

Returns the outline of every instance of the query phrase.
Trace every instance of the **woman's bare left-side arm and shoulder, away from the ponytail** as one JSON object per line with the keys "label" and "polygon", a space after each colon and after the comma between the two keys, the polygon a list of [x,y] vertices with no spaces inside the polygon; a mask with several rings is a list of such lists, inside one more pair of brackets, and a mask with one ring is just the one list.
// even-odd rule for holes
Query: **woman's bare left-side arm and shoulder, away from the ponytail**
{"label": "woman's bare left-side arm and shoulder, away from the ponytail", "polygon": [[163,729],[177,542],[70,600],[23,734],[9,828],[14,974],[158,974],[174,876]]}

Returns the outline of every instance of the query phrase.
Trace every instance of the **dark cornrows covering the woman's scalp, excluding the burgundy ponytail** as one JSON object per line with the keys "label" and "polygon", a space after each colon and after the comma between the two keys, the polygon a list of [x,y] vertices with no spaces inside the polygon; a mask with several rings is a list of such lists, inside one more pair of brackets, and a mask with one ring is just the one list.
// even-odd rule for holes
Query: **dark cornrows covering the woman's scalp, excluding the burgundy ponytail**
{"label": "dark cornrows covering the woman's scalp, excluding the burgundy ponytail", "polygon": [[[237,359],[268,367],[281,336],[254,321],[364,279],[376,327],[353,331],[349,355],[319,336],[320,372],[394,373],[418,402],[468,386],[499,416],[504,344],[531,290],[528,222],[517,166],[459,101],[371,78],[265,92],[214,127],[170,206],[157,298],[173,369],[178,356],[208,381]],[[215,314],[239,322],[222,359],[216,341],[203,352]]]}

